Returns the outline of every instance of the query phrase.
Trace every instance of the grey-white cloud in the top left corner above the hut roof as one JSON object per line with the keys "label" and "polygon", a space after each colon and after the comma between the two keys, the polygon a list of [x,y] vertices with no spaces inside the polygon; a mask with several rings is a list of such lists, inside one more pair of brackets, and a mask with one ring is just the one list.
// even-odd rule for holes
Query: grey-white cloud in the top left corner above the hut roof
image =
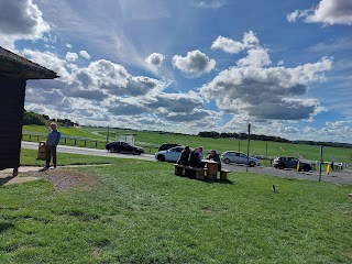
{"label": "grey-white cloud in the top left corner above the hut roof", "polygon": [[0,45],[14,50],[18,40],[38,40],[51,30],[32,0],[0,1]]}

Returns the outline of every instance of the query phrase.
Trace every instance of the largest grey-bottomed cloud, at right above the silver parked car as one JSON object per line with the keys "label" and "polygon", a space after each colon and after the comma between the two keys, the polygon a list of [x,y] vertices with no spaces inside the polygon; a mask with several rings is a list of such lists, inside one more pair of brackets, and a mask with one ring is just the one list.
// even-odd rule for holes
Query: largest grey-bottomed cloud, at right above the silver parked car
{"label": "largest grey-bottomed cloud, at right above the silver parked car", "polygon": [[228,113],[248,113],[252,119],[302,120],[324,109],[312,98],[302,99],[308,85],[323,79],[331,59],[296,68],[232,67],[221,72],[200,92],[216,100]]}

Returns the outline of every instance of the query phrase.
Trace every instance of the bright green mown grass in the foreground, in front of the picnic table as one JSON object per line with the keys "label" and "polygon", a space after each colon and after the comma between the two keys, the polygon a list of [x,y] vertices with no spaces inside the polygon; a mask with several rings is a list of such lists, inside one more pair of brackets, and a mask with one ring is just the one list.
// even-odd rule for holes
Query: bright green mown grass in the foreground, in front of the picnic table
{"label": "bright green mown grass in the foreground, in front of the picnic table", "polygon": [[116,161],[80,168],[96,187],[0,187],[0,262],[352,261],[350,186],[246,173],[207,183],[174,176],[170,164]]}

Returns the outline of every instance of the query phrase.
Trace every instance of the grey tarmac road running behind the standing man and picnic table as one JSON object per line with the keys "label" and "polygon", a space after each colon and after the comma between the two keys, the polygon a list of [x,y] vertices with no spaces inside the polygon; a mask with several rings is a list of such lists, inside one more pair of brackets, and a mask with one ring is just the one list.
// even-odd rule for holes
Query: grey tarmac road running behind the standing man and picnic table
{"label": "grey tarmac road running behind the standing man and picnic table", "polygon": [[[36,142],[25,142],[22,141],[22,148],[37,150],[38,144]],[[70,153],[70,154],[82,154],[92,156],[106,156],[106,157],[121,157],[121,158],[134,158],[155,162],[154,155],[142,154],[142,155],[131,155],[131,154],[120,154],[110,153],[106,150],[88,148],[88,147],[77,147],[77,146],[66,146],[58,145],[57,152]],[[296,169],[276,169],[268,166],[257,166],[257,167],[246,167],[245,165],[234,165],[234,164],[222,164],[222,168],[230,172],[250,172],[262,175],[270,175],[274,177],[283,178],[301,178],[310,180],[319,180],[319,172],[297,172]],[[349,169],[331,172],[327,175],[324,172],[321,173],[321,182],[352,185],[352,172]]]}

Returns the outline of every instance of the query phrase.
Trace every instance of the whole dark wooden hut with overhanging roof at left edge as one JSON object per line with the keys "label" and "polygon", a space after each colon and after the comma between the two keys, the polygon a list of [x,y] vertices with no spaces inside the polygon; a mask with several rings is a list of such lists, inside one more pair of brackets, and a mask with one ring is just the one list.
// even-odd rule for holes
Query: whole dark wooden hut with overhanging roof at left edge
{"label": "whole dark wooden hut with overhanging roof at left edge", "polygon": [[20,167],[24,95],[28,79],[58,76],[31,61],[0,47],[0,169]]}

